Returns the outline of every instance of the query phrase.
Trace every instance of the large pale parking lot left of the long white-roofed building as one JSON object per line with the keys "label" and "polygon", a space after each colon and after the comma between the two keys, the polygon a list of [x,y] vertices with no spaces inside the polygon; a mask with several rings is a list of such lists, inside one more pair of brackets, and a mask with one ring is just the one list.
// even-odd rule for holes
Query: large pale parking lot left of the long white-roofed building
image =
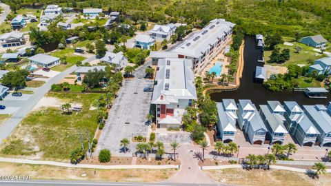
{"label": "large pale parking lot left of the long white-roofed building", "polygon": [[[99,138],[97,152],[106,148],[110,149],[113,154],[119,154],[121,139],[131,139],[132,136],[139,134],[147,135],[146,115],[150,110],[152,92],[143,92],[143,88],[151,87],[154,83],[152,80],[143,79],[148,65],[150,63],[146,63],[137,72],[134,72],[134,79],[123,81],[123,86],[112,105],[108,121]],[[130,144],[131,152],[135,151],[136,145],[135,143]]]}

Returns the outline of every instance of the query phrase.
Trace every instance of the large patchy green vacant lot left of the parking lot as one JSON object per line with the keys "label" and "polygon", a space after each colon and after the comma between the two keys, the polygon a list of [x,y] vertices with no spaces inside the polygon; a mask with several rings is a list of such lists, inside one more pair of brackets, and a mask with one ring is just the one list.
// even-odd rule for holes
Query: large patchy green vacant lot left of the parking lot
{"label": "large patchy green vacant lot left of the parking lot", "polygon": [[[39,158],[57,158],[68,160],[70,152],[80,146],[78,128],[87,141],[86,130],[90,138],[97,129],[96,105],[101,94],[48,93],[46,96],[59,99],[61,103],[81,103],[81,112],[62,114],[59,107],[46,107],[30,113],[11,137],[1,144],[1,154],[32,155]],[[61,104],[59,103],[59,104]]]}

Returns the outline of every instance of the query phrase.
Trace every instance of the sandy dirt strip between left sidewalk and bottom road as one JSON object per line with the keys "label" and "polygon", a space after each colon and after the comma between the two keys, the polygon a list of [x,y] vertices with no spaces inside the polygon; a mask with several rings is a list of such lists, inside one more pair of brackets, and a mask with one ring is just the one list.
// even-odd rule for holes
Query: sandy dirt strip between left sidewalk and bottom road
{"label": "sandy dirt strip between left sidewalk and bottom road", "polygon": [[103,180],[159,182],[177,173],[177,169],[79,169],[50,165],[0,163],[0,176],[26,175],[32,179]]}

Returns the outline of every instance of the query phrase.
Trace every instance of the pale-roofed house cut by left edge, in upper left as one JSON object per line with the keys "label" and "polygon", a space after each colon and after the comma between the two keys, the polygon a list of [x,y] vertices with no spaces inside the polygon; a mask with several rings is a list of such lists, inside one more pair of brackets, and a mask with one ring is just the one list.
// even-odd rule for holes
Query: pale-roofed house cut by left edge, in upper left
{"label": "pale-roofed house cut by left edge, in upper left", "polygon": [[3,48],[24,45],[26,40],[21,32],[10,32],[0,35],[0,43]]}

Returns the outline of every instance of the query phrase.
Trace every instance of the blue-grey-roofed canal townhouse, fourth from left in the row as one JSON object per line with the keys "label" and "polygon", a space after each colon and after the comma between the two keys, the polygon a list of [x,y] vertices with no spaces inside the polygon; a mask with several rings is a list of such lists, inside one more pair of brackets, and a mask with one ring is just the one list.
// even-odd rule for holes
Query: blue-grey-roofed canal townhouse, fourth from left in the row
{"label": "blue-grey-roofed canal townhouse, fourth from left in the row", "polygon": [[285,127],[301,146],[312,146],[316,143],[319,131],[305,115],[295,101],[284,101],[286,123]]}

